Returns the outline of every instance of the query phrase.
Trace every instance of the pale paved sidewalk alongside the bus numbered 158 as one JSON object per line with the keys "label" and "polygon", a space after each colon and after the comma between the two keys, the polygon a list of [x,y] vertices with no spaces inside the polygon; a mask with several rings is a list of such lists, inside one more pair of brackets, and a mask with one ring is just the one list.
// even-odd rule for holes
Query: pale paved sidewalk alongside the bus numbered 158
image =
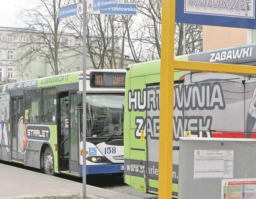
{"label": "pale paved sidewalk alongside the bus numbered 158", "polygon": [[[82,199],[83,196],[82,183],[1,163],[0,179],[0,199]],[[86,199],[139,198],[86,185]]]}

